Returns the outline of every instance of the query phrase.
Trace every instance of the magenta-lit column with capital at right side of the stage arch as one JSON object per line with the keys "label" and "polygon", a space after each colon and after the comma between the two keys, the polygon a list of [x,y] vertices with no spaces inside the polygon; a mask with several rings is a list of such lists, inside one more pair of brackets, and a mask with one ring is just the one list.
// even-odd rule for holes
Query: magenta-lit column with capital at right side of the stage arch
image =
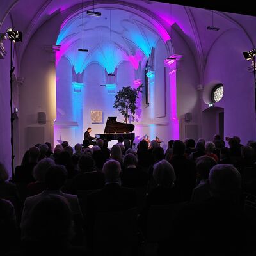
{"label": "magenta-lit column with capital at right side of the stage arch", "polygon": [[181,55],[173,54],[164,60],[164,66],[168,68],[169,74],[169,124],[170,124],[170,138],[172,140],[179,140],[179,118],[177,117],[177,71],[178,63],[182,58]]}

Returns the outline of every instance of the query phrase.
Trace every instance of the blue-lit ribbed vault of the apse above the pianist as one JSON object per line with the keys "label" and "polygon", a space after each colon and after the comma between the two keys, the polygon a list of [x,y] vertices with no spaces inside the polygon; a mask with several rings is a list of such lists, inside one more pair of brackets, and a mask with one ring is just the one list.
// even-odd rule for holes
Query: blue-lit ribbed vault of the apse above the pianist
{"label": "blue-lit ribbed vault of the apse above the pianist", "polygon": [[92,62],[100,63],[108,73],[125,60],[138,69],[140,61],[150,56],[159,40],[170,40],[168,33],[160,33],[150,21],[132,12],[117,8],[97,8],[95,12],[102,16],[86,15],[84,10],[72,15],[61,27],[56,42],[61,45],[57,61],[67,56],[76,73]]}

